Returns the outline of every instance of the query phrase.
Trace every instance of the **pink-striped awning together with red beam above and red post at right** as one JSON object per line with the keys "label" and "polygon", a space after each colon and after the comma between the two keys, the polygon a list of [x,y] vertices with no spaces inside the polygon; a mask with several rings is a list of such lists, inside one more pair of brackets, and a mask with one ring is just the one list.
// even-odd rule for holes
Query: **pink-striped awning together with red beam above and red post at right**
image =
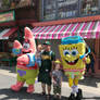
{"label": "pink-striped awning together with red beam above and red post at right", "polygon": [[[55,52],[57,58],[60,59],[58,46],[61,43],[61,39],[67,36],[79,35],[90,47],[96,57],[96,74],[100,73],[100,21],[98,17],[78,17],[72,20],[59,20],[50,22],[33,23],[33,35],[37,39],[38,43],[42,43],[46,40],[51,42],[51,49]],[[89,20],[89,21],[88,21]],[[90,21],[91,20],[91,21]]]}

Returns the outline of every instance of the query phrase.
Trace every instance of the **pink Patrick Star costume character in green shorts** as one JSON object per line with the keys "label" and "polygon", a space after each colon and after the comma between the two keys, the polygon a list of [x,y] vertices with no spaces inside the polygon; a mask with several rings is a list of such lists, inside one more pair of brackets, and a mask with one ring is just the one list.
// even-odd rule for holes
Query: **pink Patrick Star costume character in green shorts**
{"label": "pink Patrick Star costume character in green shorts", "polygon": [[35,79],[38,75],[38,66],[35,62],[36,43],[33,33],[28,27],[25,27],[25,39],[23,46],[15,40],[13,43],[13,53],[17,55],[17,82],[11,86],[14,91],[20,91],[26,83],[28,85],[27,92],[34,91]]}

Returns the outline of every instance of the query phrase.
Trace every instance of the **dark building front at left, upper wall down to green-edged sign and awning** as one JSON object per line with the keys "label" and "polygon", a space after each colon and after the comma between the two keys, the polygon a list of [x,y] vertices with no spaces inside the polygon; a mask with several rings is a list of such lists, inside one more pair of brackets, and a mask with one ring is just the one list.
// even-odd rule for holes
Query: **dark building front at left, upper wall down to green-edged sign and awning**
{"label": "dark building front at left, upper wall down to green-edged sign and awning", "polygon": [[23,42],[24,27],[38,18],[38,0],[0,0],[0,62],[13,62],[13,41]]}

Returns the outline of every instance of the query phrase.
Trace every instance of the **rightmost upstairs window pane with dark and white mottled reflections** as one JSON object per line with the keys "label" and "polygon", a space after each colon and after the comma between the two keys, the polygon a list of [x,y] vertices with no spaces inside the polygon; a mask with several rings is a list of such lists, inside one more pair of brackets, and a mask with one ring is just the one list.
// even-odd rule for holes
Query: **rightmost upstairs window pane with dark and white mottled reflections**
{"label": "rightmost upstairs window pane with dark and white mottled reflections", "polygon": [[99,0],[82,0],[82,15],[97,14],[99,11]]}

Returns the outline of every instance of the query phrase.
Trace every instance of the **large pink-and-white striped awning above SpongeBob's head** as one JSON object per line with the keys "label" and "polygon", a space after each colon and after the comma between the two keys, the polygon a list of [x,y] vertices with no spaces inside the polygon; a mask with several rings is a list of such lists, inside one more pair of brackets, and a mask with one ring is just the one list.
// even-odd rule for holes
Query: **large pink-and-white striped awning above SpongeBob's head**
{"label": "large pink-and-white striped awning above SpongeBob's head", "polygon": [[65,25],[39,26],[33,29],[36,39],[61,39],[80,35],[84,38],[100,38],[100,21]]}

